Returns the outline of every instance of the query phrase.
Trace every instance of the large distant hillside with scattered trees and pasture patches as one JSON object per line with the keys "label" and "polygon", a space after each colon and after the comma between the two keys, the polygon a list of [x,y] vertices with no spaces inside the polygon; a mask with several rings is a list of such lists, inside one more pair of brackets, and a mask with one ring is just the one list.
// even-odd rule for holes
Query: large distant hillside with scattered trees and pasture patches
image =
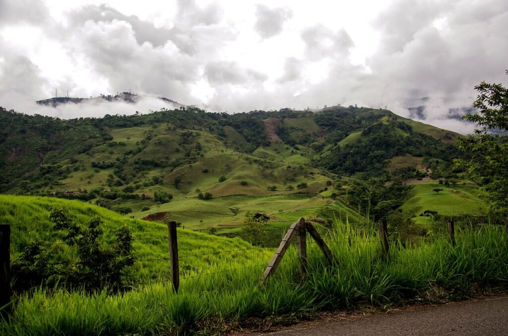
{"label": "large distant hillside with scattered trees and pasture patches", "polygon": [[234,227],[247,210],[269,214],[277,230],[304,215],[364,223],[379,201],[401,204],[407,190],[385,183],[458,178],[451,159],[462,155],[456,133],[353,106],[72,120],[0,109],[0,122],[0,192],[79,199],[133,218],[164,213],[245,239]]}

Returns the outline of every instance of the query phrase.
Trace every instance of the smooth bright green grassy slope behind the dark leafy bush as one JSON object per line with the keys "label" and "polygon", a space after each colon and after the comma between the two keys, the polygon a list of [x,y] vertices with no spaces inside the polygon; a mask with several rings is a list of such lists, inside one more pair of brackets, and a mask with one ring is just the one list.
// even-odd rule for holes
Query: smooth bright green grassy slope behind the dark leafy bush
{"label": "smooth bright green grassy slope behind the dark leafy bush", "polygon": [[[60,242],[51,231],[53,224],[49,213],[52,207],[69,210],[77,223],[84,223],[93,216],[99,216],[104,222],[105,242],[111,241],[113,230],[122,224],[128,225],[134,235],[135,259],[150,259],[134,264],[133,281],[169,279],[169,266],[165,260],[169,256],[168,229],[165,224],[128,218],[81,201],[54,197],[0,195],[0,223],[11,225],[13,260],[30,242]],[[268,260],[273,253],[269,249],[257,249],[220,254],[221,251],[252,249],[252,245],[239,238],[203,235],[201,232],[180,228],[178,236],[180,255],[216,253],[208,254],[206,258],[191,256],[181,261],[182,270],[192,270],[196,274],[219,262],[241,265],[252,259]],[[63,253],[71,251],[65,249]]]}

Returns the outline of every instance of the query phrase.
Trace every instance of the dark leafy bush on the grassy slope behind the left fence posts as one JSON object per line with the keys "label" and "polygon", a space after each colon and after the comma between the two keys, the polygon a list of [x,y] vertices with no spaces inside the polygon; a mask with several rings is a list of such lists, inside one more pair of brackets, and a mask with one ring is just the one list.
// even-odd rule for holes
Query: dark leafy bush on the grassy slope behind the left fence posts
{"label": "dark leafy bush on the grassy slope behind the left fence posts", "polygon": [[[69,289],[119,290],[127,279],[128,267],[134,263],[129,227],[123,225],[116,229],[115,241],[104,246],[100,217],[79,225],[69,210],[53,208],[50,218],[52,231],[64,244],[50,245],[43,241],[28,244],[12,263],[15,289],[58,284]],[[66,249],[74,250],[75,254],[63,254]]]}

